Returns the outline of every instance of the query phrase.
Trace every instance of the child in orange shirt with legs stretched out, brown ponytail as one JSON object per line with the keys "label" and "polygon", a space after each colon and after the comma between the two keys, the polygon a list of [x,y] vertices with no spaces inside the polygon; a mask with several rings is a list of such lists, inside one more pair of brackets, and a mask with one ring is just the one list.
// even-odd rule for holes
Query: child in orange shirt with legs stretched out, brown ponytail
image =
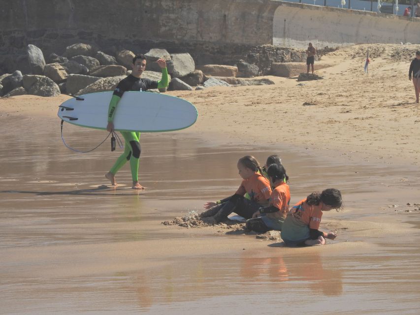
{"label": "child in orange shirt with legs stretched out, brown ponytail", "polygon": [[[201,213],[201,218],[207,223],[219,223],[227,220],[232,212],[251,219],[253,214],[261,207],[268,204],[271,187],[268,180],[262,176],[258,161],[252,156],[245,156],[238,160],[239,175],[243,181],[236,193],[218,202],[207,202],[204,205],[207,211]],[[248,193],[251,200],[244,197]]]}

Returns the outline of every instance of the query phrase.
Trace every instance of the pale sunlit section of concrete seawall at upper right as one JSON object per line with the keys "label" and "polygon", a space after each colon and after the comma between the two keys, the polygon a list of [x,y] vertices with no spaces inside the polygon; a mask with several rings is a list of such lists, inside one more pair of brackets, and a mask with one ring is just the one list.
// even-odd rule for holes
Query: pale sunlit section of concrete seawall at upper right
{"label": "pale sunlit section of concrete seawall at upper right", "polygon": [[420,19],[281,2],[273,17],[273,43],[284,47],[336,47],[359,43],[420,43]]}

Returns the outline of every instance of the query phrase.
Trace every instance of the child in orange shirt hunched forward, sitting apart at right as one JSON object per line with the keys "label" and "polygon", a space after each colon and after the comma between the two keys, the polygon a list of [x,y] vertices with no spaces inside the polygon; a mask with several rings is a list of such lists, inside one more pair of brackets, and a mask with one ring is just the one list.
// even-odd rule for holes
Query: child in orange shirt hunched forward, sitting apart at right
{"label": "child in orange shirt hunched forward, sitting apart at right", "polygon": [[338,189],[325,189],[323,192],[311,193],[299,201],[289,211],[283,222],[281,237],[286,245],[313,246],[325,245],[325,238],[335,239],[334,232],[319,231],[323,211],[340,209],[341,192]]}

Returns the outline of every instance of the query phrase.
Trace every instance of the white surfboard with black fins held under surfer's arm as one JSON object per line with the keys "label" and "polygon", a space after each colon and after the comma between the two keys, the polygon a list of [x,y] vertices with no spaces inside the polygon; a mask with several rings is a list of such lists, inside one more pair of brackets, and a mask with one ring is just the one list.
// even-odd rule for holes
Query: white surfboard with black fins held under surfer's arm
{"label": "white surfboard with black fins held under surfer's arm", "polygon": [[[73,125],[106,129],[113,92],[79,95],[59,106],[58,117]],[[126,92],[117,105],[113,123],[118,131],[163,132],[192,126],[197,109],[185,99],[150,93]]]}

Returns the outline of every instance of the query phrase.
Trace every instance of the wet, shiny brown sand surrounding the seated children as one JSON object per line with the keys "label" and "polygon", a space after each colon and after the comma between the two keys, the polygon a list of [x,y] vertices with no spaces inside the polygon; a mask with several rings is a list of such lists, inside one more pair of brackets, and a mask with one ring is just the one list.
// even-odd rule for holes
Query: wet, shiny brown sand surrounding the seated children
{"label": "wet, shiny brown sand surrounding the seated children", "polygon": [[[118,173],[121,186],[107,186],[103,175],[118,151],[74,154],[52,126],[33,139],[7,136],[0,157],[4,314],[417,314],[420,218],[387,208],[418,191],[409,168],[320,160],[281,147],[215,150],[185,133],[144,135],[147,189],[137,191],[127,186],[128,166]],[[66,140],[82,148],[102,136],[79,128]],[[160,224],[234,191],[236,161],[250,152],[259,161],[282,156],[292,202],[339,187],[346,210],[323,220],[345,234],[323,248],[285,248],[252,235]],[[369,221],[389,225],[369,234]]]}

